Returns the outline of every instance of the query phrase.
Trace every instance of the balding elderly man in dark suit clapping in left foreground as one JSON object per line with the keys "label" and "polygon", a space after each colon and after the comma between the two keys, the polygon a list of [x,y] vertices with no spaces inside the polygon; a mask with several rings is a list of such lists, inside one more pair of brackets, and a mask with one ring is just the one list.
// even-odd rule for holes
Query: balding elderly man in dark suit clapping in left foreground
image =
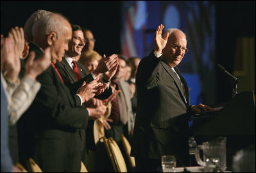
{"label": "balding elderly man in dark suit clapping in left foreground", "polygon": [[[32,28],[30,51],[36,58],[51,49],[51,65],[37,77],[41,88],[35,101],[18,122],[20,160],[25,165],[33,158],[44,172],[80,172],[81,139],[79,129],[87,128],[89,119],[98,119],[106,108],[94,99],[102,88],[99,78],[83,83],[71,94],[55,67],[68,51],[72,38],[69,21],[60,14],[42,16]],[[87,108],[82,107],[87,103]]]}

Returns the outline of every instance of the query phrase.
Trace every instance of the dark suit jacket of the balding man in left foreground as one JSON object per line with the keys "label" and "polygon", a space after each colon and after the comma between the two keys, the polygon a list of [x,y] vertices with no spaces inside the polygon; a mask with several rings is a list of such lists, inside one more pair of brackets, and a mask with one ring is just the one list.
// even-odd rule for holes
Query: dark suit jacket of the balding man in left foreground
{"label": "dark suit jacket of the balding man in left foreground", "polygon": [[[36,58],[43,53],[30,44]],[[37,77],[41,88],[30,108],[18,121],[20,159],[31,157],[44,172],[80,172],[79,129],[87,128],[89,113],[81,107],[52,65]]]}

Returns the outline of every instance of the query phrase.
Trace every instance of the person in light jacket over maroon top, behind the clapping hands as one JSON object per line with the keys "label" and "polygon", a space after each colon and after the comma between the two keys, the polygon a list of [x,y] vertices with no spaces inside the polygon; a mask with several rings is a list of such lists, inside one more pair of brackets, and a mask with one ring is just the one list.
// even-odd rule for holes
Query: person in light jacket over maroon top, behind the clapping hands
{"label": "person in light jacket over maroon top, behind the clapping hands", "polygon": [[125,59],[119,56],[119,66],[110,85],[114,86],[115,90],[121,90],[121,92],[111,102],[110,117],[105,120],[104,124],[105,136],[112,136],[120,147],[122,146],[121,134],[123,133],[126,138],[130,138],[133,133],[134,124],[129,84],[124,81],[125,67]]}

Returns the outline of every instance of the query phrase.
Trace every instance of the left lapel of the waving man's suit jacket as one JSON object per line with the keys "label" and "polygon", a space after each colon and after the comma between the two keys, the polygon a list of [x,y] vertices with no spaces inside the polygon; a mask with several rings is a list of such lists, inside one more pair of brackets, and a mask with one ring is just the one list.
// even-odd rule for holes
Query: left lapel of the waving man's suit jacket
{"label": "left lapel of the waving man's suit jacket", "polygon": [[162,64],[162,66],[164,67],[164,69],[167,71],[167,73],[171,76],[171,78],[174,79],[175,81],[175,85],[178,88],[178,91],[180,92],[180,95],[182,96],[182,101],[187,105],[186,101],[184,98],[187,99],[187,97],[185,97],[185,95],[183,94],[183,89],[182,89],[182,83],[180,81],[180,79],[178,78],[178,76],[175,74],[175,72],[173,72],[173,70],[171,70],[171,67],[169,67],[169,65],[167,65],[166,62],[164,62],[163,60],[160,62]]}

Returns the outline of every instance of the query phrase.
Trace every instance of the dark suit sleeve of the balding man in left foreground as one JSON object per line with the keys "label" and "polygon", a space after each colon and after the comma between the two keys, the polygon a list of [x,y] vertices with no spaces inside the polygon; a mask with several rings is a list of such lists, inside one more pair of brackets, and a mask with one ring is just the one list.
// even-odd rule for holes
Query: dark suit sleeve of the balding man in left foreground
{"label": "dark suit sleeve of the balding man in left foreground", "polygon": [[39,120],[42,124],[53,122],[57,126],[86,128],[89,120],[87,109],[77,106],[73,95],[64,93],[69,90],[53,78],[53,70],[49,67],[37,78],[41,89],[35,98],[34,108],[42,115]]}

